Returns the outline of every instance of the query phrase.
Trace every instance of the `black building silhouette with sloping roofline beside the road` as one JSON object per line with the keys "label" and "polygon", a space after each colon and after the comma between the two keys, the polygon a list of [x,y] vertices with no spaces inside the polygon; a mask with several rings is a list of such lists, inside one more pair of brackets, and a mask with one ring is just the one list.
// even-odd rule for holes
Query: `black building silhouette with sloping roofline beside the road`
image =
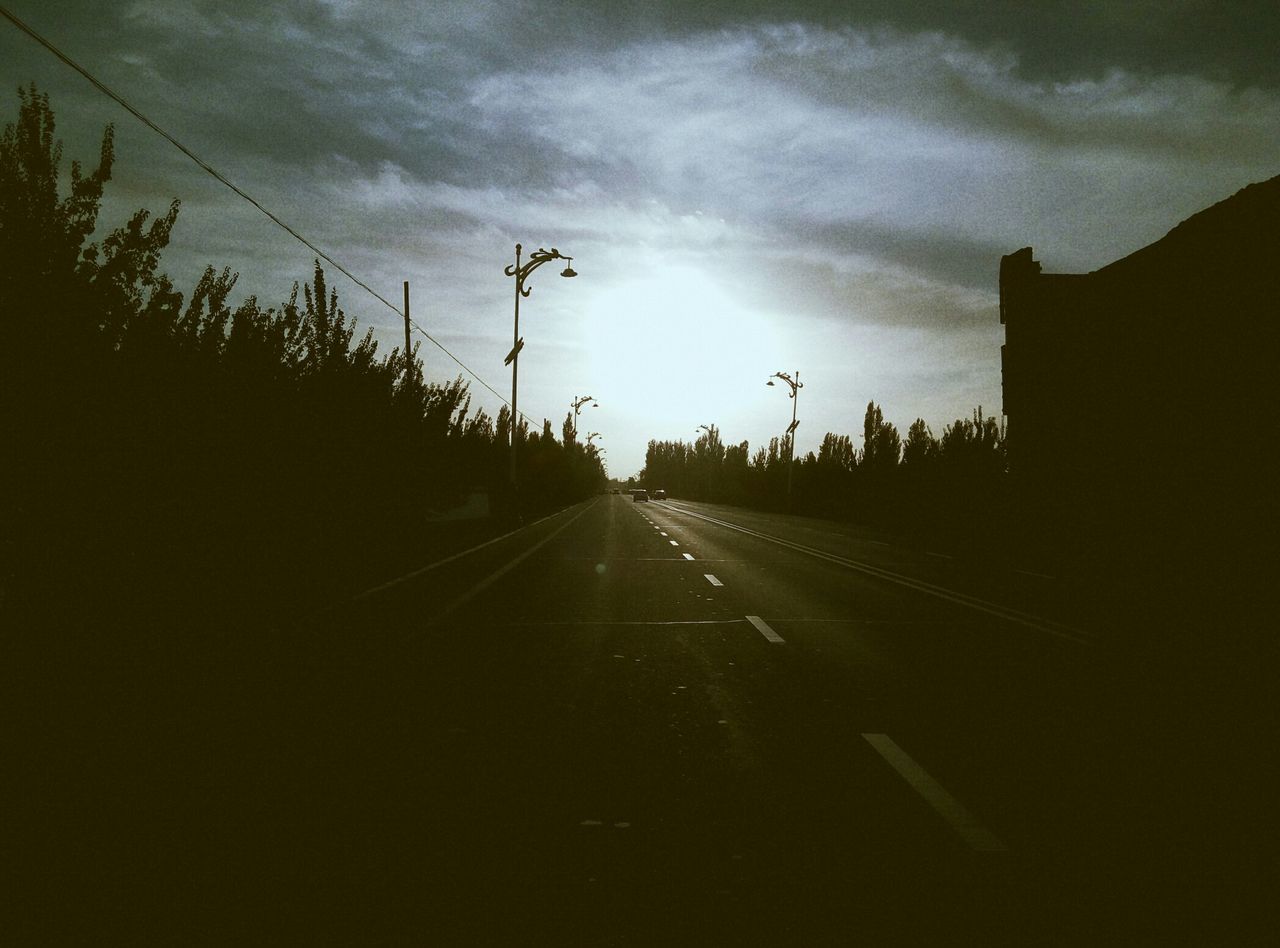
{"label": "black building silhouette with sloping roofline beside the road", "polygon": [[1183,563],[1274,522],[1280,177],[1093,273],[1010,253],[1000,321],[1010,477],[1034,522]]}

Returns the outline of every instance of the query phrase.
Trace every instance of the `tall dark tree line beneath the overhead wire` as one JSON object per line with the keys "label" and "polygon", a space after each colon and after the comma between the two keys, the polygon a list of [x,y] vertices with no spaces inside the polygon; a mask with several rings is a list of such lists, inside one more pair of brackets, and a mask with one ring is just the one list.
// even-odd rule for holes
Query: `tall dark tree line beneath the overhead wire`
{"label": "tall dark tree line beneath the overhead wire", "polygon": [[319,261],[284,302],[233,304],[229,269],[186,296],[160,270],[178,201],[90,241],[113,129],[68,179],[61,152],[47,96],[19,90],[0,136],[6,604],[55,576],[96,577],[100,604],[143,586],[218,609],[334,595],[411,557],[468,494],[516,518],[604,484],[568,426],[557,440],[520,420],[513,495],[507,407],[425,380],[416,345],[379,353]]}

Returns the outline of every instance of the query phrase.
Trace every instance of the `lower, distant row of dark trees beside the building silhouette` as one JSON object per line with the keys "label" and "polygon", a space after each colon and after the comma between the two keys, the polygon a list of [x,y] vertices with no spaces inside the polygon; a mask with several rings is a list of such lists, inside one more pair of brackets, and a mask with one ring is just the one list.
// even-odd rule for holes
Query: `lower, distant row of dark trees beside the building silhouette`
{"label": "lower, distant row of dark trees beside the building silhouette", "polygon": [[[692,443],[650,440],[640,484],[672,496],[854,519],[901,532],[980,537],[1007,519],[1005,436],[979,406],[937,438],[916,418],[901,438],[869,402],[861,445],[828,431],[791,457],[791,435],[754,453],[709,425]],[[790,468],[790,471],[788,471]]]}

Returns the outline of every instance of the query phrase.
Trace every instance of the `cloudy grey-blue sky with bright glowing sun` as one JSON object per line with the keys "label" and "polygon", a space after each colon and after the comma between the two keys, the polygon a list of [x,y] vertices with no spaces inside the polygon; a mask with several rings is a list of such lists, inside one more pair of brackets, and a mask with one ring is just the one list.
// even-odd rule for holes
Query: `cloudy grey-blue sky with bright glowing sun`
{"label": "cloudy grey-blue sky with bright glowing sun", "polygon": [[[559,436],[594,395],[609,472],[701,425],[753,452],[1000,415],[1000,257],[1105,266],[1280,174],[1274,0],[0,0],[399,306],[426,375]],[[163,269],[288,298],[315,253],[0,19],[0,120],[51,97],[64,162],[108,123],[106,229],[182,211]],[[329,269],[381,352],[401,317]],[[498,394],[494,394],[498,393]],[[376,489],[376,485],[369,485]]]}

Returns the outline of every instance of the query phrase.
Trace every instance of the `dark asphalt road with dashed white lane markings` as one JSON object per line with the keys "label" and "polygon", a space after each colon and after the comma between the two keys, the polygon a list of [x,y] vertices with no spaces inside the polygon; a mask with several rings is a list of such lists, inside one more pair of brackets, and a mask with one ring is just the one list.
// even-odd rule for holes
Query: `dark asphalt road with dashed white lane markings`
{"label": "dark asphalt road with dashed white lane markings", "polygon": [[154,896],[218,943],[1213,930],[1087,613],[1033,568],[599,496],[264,646]]}

